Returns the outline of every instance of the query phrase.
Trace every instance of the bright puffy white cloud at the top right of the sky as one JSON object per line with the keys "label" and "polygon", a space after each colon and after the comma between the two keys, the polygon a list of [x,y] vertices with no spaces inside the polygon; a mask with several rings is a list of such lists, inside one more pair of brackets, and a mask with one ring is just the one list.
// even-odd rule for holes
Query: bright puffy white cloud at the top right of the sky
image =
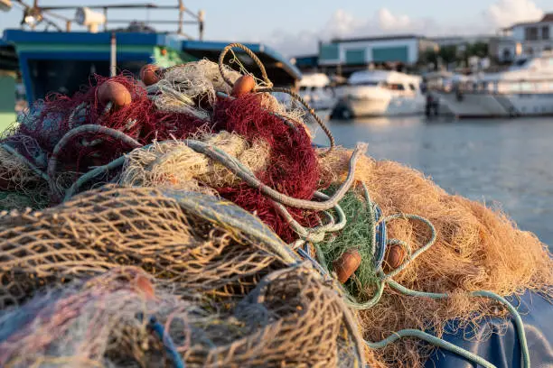
{"label": "bright puffy white cloud at the top right of the sky", "polygon": [[484,17],[496,28],[537,21],[542,16],[543,10],[531,0],[500,0],[484,12]]}

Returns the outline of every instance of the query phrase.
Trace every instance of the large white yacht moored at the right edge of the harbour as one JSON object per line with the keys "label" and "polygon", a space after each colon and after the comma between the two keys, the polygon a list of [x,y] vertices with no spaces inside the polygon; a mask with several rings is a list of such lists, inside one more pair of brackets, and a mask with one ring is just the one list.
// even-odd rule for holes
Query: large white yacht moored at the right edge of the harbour
{"label": "large white yacht moored at the right edge of the harbour", "polygon": [[517,60],[506,71],[477,75],[437,94],[458,117],[553,115],[553,52]]}

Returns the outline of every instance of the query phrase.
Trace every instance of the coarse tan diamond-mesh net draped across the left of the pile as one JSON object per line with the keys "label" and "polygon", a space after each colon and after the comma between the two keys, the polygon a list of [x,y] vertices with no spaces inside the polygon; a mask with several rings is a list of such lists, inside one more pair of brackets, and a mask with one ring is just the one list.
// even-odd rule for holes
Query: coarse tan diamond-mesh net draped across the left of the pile
{"label": "coarse tan diamond-mesh net draped across the left of the pile", "polygon": [[120,265],[140,266],[177,291],[183,287],[231,295],[277,262],[263,244],[248,249],[240,244],[239,233],[231,236],[231,229],[185,216],[181,206],[185,197],[195,213],[203,201],[220,216],[227,213],[243,221],[248,216],[248,225],[256,225],[247,212],[233,207],[229,213],[228,203],[211,196],[168,193],[171,197],[157,189],[107,186],[60,207],[0,218],[1,305],[18,303],[44,283]]}

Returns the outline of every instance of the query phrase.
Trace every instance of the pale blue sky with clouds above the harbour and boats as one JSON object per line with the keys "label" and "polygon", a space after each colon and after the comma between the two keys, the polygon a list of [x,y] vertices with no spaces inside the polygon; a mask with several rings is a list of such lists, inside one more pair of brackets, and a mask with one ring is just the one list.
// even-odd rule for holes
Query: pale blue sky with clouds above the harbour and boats
{"label": "pale blue sky with clouds above the harbour and boats", "polygon": [[[26,3],[31,3],[26,0]],[[40,0],[39,5],[105,5],[147,0]],[[173,5],[176,0],[149,2]],[[286,56],[317,51],[318,41],[334,37],[417,33],[426,36],[493,34],[511,23],[535,21],[553,12],[553,0],[184,0],[205,12],[206,40],[263,42]],[[73,16],[74,11],[61,13]],[[108,20],[176,20],[176,10],[113,10]],[[0,12],[0,32],[17,28],[21,11]],[[155,24],[159,31],[173,26]],[[74,30],[78,27],[74,27]],[[197,37],[197,28],[185,32]]]}

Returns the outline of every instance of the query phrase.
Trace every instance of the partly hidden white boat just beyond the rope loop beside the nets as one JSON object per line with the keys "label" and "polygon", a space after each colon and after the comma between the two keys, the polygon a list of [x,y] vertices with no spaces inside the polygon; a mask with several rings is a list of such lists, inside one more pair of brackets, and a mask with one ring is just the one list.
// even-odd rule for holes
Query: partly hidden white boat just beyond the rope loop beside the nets
{"label": "partly hidden white boat just beyond the rope loop beside the nets", "polygon": [[337,102],[331,80],[323,73],[305,74],[299,82],[299,95],[315,110],[331,110]]}

